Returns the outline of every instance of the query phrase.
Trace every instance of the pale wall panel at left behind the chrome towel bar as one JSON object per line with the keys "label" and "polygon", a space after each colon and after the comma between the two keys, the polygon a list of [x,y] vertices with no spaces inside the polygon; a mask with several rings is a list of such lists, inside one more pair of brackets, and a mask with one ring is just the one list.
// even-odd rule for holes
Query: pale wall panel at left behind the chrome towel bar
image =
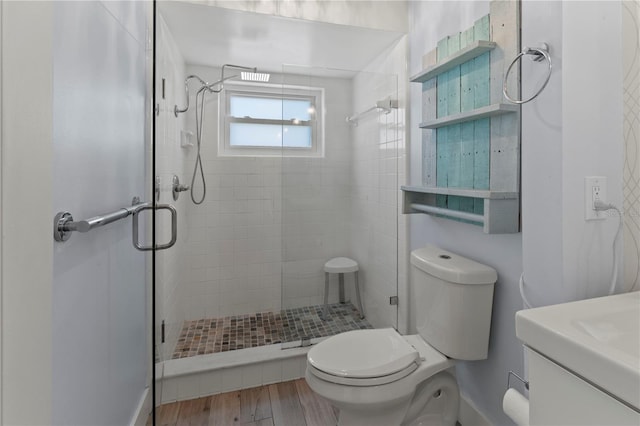
{"label": "pale wall panel at left behind the chrome towel bar", "polygon": [[[53,6],[51,217],[80,220],[145,196],[146,7]],[[128,424],[147,386],[145,254],[130,220],[51,243],[53,424]]]}

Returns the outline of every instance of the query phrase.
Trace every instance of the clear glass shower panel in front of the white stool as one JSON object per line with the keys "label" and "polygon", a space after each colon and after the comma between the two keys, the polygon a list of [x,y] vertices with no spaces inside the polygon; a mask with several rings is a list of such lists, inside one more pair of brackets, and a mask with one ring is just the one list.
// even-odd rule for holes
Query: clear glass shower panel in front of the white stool
{"label": "clear glass shower panel in front of the white stool", "polygon": [[[397,110],[348,123],[376,104],[367,85],[397,99],[395,75],[283,66],[284,88],[322,94],[312,107],[315,153],[283,150],[283,348],[397,327]],[[332,264],[349,272],[326,273]]]}

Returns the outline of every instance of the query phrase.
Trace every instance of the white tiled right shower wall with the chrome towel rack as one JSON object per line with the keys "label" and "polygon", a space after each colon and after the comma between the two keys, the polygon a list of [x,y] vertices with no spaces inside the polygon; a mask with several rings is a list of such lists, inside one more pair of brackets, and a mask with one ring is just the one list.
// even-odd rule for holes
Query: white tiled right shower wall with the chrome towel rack
{"label": "white tiled right shower wall with the chrome towel rack", "polygon": [[403,37],[358,73],[353,84],[354,112],[387,97],[399,106],[389,114],[363,116],[351,128],[349,255],[360,265],[364,310],[374,327],[398,326],[398,307],[389,305],[389,297],[398,294],[399,283],[406,283],[405,217],[399,197],[406,169],[406,47]]}

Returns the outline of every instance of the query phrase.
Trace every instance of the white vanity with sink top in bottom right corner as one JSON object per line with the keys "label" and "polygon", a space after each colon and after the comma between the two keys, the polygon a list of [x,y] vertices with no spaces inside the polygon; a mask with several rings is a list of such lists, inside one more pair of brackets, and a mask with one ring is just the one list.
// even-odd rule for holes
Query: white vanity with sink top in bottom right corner
{"label": "white vanity with sink top in bottom right corner", "polygon": [[527,309],[531,426],[640,426],[640,292]]}

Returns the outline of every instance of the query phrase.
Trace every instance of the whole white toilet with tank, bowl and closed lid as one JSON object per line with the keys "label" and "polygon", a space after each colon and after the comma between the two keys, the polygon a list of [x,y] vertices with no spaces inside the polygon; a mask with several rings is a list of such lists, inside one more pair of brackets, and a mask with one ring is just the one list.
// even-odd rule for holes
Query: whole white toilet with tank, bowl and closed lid
{"label": "whole white toilet with tank, bowl and closed lid", "polygon": [[340,410],[341,426],[455,425],[460,396],[447,370],[487,357],[496,279],[493,268],[438,247],[413,251],[418,334],[387,328],[330,337],[307,354],[309,387]]}

